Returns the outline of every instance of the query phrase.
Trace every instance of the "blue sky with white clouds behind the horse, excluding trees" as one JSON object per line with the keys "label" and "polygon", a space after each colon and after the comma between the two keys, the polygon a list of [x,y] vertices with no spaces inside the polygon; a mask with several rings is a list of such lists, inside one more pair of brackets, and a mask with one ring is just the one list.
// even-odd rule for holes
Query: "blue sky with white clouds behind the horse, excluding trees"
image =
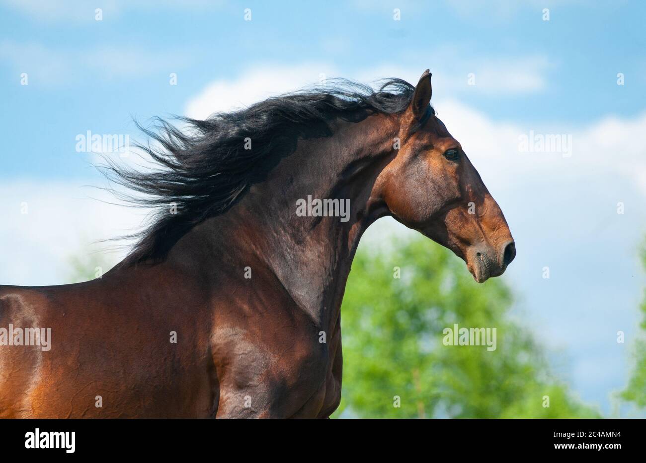
{"label": "blue sky with white clouds behind the horse, excluding trees", "polygon": [[[430,68],[433,107],[516,240],[514,315],[581,399],[615,413],[646,283],[645,15],[621,0],[0,0],[0,282],[66,282],[70,255],[144,219],[95,188],[78,135],[141,140],[133,119]],[[382,220],[364,241],[407,233]]]}

